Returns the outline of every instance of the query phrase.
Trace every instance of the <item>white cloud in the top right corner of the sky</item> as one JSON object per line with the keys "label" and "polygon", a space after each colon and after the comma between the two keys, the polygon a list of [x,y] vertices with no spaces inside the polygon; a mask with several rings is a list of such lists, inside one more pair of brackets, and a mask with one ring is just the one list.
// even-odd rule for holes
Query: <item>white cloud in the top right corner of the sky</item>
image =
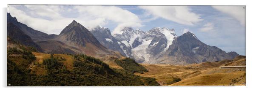
{"label": "white cloud in the top right corner of the sky", "polygon": [[212,6],[222,13],[227,13],[228,15],[234,17],[240,22],[241,25],[245,25],[245,8],[244,6]]}

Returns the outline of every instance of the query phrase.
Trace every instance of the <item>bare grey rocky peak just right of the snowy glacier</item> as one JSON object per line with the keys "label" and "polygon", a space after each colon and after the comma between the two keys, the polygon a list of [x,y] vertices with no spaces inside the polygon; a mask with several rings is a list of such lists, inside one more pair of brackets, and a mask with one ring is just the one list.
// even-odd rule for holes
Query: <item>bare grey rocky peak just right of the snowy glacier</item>
{"label": "bare grey rocky peak just right of the snowy glacier", "polygon": [[216,46],[202,43],[191,32],[176,37],[170,48],[166,51],[165,57],[169,61],[159,63],[191,64],[201,62],[215,62],[224,59],[233,59],[238,56],[236,52],[226,53]]}

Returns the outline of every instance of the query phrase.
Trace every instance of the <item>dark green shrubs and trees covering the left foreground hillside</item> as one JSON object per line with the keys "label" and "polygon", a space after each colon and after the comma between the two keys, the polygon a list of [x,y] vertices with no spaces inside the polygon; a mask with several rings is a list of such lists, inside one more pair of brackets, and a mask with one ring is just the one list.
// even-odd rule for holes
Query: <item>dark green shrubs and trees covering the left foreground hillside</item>
{"label": "dark green shrubs and trees covering the left foreground hillside", "polygon": [[[15,50],[15,49],[14,49]],[[62,57],[44,59],[40,65],[47,70],[45,75],[36,75],[28,70],[20,70],[14,58],[8,58],[7,86],[158,86],[154,78],[134,75],[122,69],[109,68],[100,59],[83,54],[72,55],[73,67],[67,70]],[[17,57],[19,58],[19,57]],[[16,67],[14,66],[16,65]],[[39,67],[40,67],[39,66]],[[24,67],[28,68],[28,67]]]}

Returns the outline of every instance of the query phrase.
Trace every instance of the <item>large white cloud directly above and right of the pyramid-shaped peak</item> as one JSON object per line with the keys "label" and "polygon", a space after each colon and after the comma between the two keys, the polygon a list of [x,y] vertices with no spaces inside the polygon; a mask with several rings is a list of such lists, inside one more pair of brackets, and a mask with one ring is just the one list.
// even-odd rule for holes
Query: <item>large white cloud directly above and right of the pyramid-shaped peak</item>
{"label": "large white cloud directly above and right of the pyramid-shaped peak", "polygon": [[122,33],[120,32],[120,30],[124,27],[141,27],[142,26],[141,21],[137,15],[116,6],[81,5],[81,6],[75,6],[74,8],[80,12],[80,16],[90,14],[89,15],[90,17],[98,17],[105,20],[116,22],[118,25],[112,32],[113,35],[117,33],[118,34]]}

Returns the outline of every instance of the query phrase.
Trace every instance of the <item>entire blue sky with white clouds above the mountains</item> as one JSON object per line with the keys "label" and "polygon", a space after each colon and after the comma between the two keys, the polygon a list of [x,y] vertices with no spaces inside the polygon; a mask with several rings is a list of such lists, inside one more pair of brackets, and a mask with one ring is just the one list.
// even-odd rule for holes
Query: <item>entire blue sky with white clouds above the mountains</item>
{"label": "entire blue sky with white clouds above the mountains", "polygon": [[90,29],[108,27],[113,34],[123,27],[148,31],[153,27],[190,31],[202,42],[226,52],[245,55],[244,6],[137,6],[137,5],[10,5],[18,21],[48,34],[59,34],[76,20]]}

